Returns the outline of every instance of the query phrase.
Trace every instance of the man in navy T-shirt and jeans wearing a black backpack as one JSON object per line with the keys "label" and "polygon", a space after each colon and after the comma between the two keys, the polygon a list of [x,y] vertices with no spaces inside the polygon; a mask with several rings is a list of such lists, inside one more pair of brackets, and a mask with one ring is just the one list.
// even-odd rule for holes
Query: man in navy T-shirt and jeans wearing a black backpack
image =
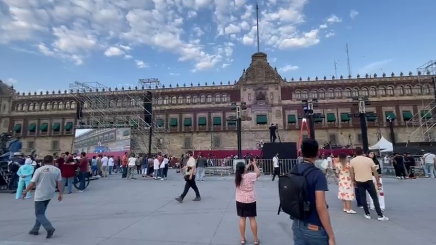
{"label": "man in navy T-shirt and jeans wearing a black backpack", "polygon": [[280,209],[294,219],[295,245],[336,244],[325,202],[327,181],[314,165],[318,148],[316,140],[304,140],[301,144],[303,162],[293,167],[290,175],[279,178]]}

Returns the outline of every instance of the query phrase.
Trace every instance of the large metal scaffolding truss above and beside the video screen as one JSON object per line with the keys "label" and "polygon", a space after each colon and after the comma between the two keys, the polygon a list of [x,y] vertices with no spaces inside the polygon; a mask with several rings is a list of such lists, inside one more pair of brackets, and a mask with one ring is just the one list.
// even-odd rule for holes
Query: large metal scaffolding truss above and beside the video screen
{"label": "large metal scaffolding truss above and beside the video screen", "polygon": [[154,107],[160,93],[159,83],[157,79],[147,79],[140,86],[121,89],[98,82],[69,84],[70,93],[83,108],[76,128],[130,127],[132,152],[149,153],[151,140],[151,153],[167,153],[168,131],[159,118],[165,112]]}

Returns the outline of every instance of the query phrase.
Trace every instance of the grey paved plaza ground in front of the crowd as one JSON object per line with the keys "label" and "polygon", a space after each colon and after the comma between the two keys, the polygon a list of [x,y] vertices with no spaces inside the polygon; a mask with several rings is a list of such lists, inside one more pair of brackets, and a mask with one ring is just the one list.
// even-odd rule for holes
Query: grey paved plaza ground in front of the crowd
{"label": "grey paved plaza ground in front of the crowd", "polygon": [[[379,222],[375,211],[371,220],[355,207],[358,214],[343,213],[337,186],[330,180],[327,197],[337,244],[436,244],[436,180],[385,178],[384,185],[390,220]],[[175,201],[183,186],[174,171],[166,181],[124,180],[120,175],[92,181],[84,193],[50,202],[46,215],[56,228],[51,239],[42,229],[38,236],[27,234],[34,222],[32,200],[0,194],[0,245],[239,244],[233,177],[207,177],[198,183],[199,202],[191,201],[192,190],[184,203]],[[262,176],[256,191],[261,244],[293,244],[292,220],[277,215],[277,181]],[[251,231],[246,237],[252,244]]]}

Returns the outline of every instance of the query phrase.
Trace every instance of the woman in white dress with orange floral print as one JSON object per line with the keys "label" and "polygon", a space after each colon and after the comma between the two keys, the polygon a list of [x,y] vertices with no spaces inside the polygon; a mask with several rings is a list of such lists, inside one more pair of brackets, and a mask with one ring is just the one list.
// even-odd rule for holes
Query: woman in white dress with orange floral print
{"label": "woman in white dress with orange floral print", "polygon": [[354,185],[350,176],[350,163],[347,161],[345,153],[339,154],[339,162],[336,163],[336,173],[338,174],[338,199],[342,200],[343,212],[355,214],[351,209],[351,201],[354,200]]}

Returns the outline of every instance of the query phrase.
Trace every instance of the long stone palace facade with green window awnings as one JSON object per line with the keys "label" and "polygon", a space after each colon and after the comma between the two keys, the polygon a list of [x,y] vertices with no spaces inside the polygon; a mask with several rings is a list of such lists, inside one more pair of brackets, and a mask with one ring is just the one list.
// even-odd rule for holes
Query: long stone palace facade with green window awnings
{"label": "long stone palace facade with green window awnings", "polygon": [[[315,113],[325,117],[316,120],[316,139],[322,145],[361,145],[358,118],[349,117],[358,111],[352,97],[368,97],[367,112],[377,116],[368,118],[369,143],[380,136],[390,139],[387,116],[395,116],[397,142],[406,142],[411,128],[406,121],[425,114],[425,105],[433,101],[433,85],[429,76],[409,74],[372,74],[355,78],[307,78],[286,81],[267,62],[265,53],[252,55],[251,64],[233,84],[205,86],[184,85],[152,89],[153,109],[160,126],[165,127],[168,152],[180,155],[187,149],[235,149],[237,147],[232,102],[246,102],[243,114],[251,121],[242,122],[243,148],[255,148],[263,140],[269,141],[268,127],[278,124],[284,142],[297,142],[302,100],[318,99]],[[145,92],[146,90],[144,90]],[[133,92],[133,89],[132,89]],[[137,90],[134,92],[138,92]],[[158,92],[158,93],[157,93]],[[35,148],[40,155],[71,151],[76,119],[76,99],[68,91],[20,93],[0,84],[0,132],[9,131],[20,136],[23,147]],[[118,103],[118,102],[117,102]],[[127,103],[129,111],[139,109]],[[419,116],[418,116],[419,117]],[[430,113],[425,117],[431,117]],[[84,109],[84,120],[92,120]]]}

